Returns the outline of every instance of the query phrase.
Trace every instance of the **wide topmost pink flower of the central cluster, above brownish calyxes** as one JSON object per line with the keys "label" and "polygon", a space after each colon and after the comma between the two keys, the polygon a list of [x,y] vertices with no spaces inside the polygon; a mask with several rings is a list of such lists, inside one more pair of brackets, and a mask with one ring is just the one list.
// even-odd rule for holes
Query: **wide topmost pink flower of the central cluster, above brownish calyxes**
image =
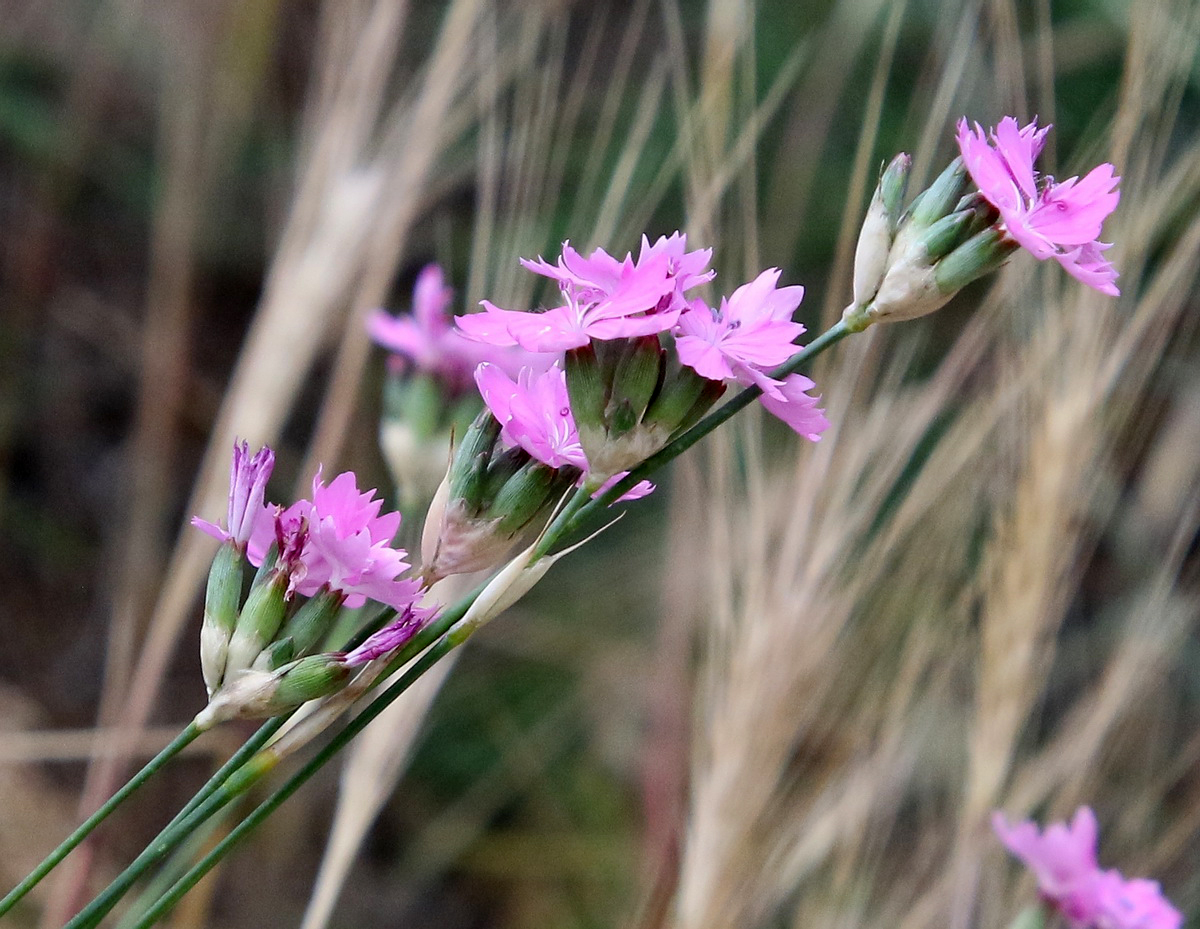
{"label": "wide topmost pink flower of the central cluster, above brownish calyxes", "polygon": [[460,316],[458,328],[470,338],[494,346],[520,344],[529,352],[564,352],[592,338],[634,338],[662,332],[683,310],[683,292],[713,278],[706,271],[712,250],[686,251],[676,233],[654,245],[642,236],[637,260],[618,260],[604,248],[587,258],[563,244],[557,265],[521,259],[533,271],[558,282],[564,304],[541,313],[502,310],[484,300],[485,312]]}

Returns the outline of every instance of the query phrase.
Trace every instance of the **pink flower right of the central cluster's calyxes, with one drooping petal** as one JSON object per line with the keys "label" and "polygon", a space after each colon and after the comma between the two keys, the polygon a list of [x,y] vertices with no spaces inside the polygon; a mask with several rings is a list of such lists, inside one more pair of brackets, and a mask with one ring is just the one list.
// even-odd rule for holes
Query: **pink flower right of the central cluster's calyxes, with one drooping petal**
{"label": "pink flower right of the central cluster's calyxes, with one drooping petal", "polygon": [[803,287],[776,288],[780,270],[769,268],[743,284],[718,310],[692,300],[679,317],[676,349],[679,360],[709,380],[734,378],[762,388],[762,404],[796,432],[816,442],[829,421],[817,407],[816,386],[802,374],[776,380],[768,373],[799,350],[794,340],[804,326],[792,313],[804,298]]}

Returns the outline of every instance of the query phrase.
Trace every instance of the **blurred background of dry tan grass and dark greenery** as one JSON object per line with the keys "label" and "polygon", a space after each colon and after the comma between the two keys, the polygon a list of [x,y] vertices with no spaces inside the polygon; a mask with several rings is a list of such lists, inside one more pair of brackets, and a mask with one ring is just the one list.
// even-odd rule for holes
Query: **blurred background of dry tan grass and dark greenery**
{"label": "blurred background of dry tan grass and dark greenery", "polygon": [[[1194,909],[1200,6],[0,14],[5,885],[203,705],[185,525],[223,511],[234,436],[275,445],[272,499],[323,462],[400,505],[362,319],[425,263],[460,311],[533,306],[517,257],[682,228],[715,292],[780,266],[818,331],[881,163],[912,152],[916,190],[959,116],[1010,113],[1055,124],[1046,173],[1123,175],[1120,299],[1022,253],[842,343],[820,444],[755,414],[707,440],[173,924],[1002,927],[1033,887],[991,810],[1081,803],[1105,867]],[[60,925],[247,732],[8,922]]]}

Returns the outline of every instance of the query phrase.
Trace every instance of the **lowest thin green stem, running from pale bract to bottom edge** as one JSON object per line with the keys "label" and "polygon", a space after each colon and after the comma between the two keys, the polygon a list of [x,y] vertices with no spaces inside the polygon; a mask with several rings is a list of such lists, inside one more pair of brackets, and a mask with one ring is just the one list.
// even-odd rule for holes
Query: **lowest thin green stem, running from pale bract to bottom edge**
{"label": "lowest thin green stem, running from pale bract to bottom edge", "polygon": [[[199,883],[200,879],[212,870],[216,863],[221,861],[221,858],[223,858],[234,845],[252,832],[258,823],[275,813],[275,810],[278,809],[288,797],[295,793],[305,784],[305,781],[320,771],[320,768],[323,768],[325,763],[334,757],[334,755],[341,751],[342,748],[350,742],[350,739],[358,736],[358,733],[361,732],[362,729],[371,723],[371,720],[378,717],[394,700],[408,690],[408,688],[412,687],[413,683],[430,667],[432,667],[438,659],[454,649],[455,645],[456,643],[451,642],[449,639],[442,639],[437,645],[425,652],[425,654],[422,654],[398,681],[376,697],[361,713],[350,720],[346,729],[334,736],[325,748],[313,755],[304,767],[301,767],[287,780],[287,783],[283,784],[283,786],[256,807],[253,813],[239,822],[229,832],[229,834],[217,843],[208,855],[200,858],[200,861],[198,861],[192,869],[187,871],[187,874],[175,881],[172,888],[160,897],[157,903],[142,915],[142,918],[133,925],[133,929],[146,929],[170,911],[170,909],[179,903],[184,894]],[[268,754],[269,753],[270,749],[268,749]],[[76,928],[68,927],[67,929]]]}

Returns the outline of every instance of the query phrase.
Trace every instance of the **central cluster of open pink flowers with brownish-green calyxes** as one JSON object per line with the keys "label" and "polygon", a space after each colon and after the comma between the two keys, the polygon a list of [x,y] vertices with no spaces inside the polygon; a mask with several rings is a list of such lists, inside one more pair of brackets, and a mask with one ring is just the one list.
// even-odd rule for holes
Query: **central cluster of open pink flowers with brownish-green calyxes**
{"label": "central cluster of open pink flowers with brownish-green calyxes", "polygon": [[[516,382],[494,368],[476,373],[505,437],[551,467],[569,462],[583,469],[600,485],[661,448],[736,379],[760,386],[772,413],[816,439],[828,424],[806,394],[812,382],[768,374],[800,348],[794,340],[804,326],[792,322],[792,312],[804,289],[776,288],[780,272],[770,269],[709,307],[688,292],[713,280],[710,259],[710,248],[688,251],[683,233],[653,245],[643,236],[636,260],[602,248],[583,257],[569,242],[557,264],[522,259],[558,283],[562,305],[523,312],[485,300],[482,313],[457,320],[468,337],[492,346],[566,353],[562,373],[521,374]],[[673,368],[661,334],[674,336]],[[691,373],[680,376],[680,365]],[[578,448],[571,442],[576,434]]]}

